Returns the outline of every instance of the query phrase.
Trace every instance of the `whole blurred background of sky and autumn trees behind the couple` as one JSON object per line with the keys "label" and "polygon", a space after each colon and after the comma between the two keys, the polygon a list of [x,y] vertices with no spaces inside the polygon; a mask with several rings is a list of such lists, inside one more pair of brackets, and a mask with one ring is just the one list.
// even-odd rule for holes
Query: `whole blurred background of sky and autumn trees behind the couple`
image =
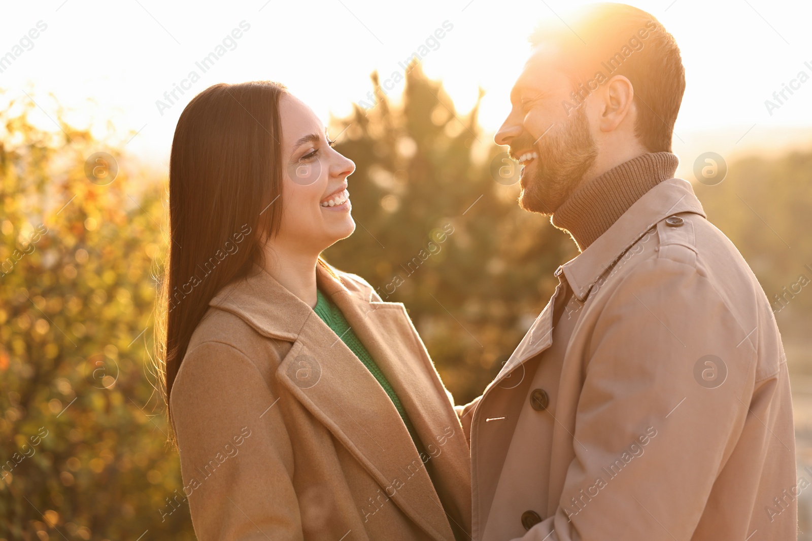
{"label": "whole blurred background of sky and autumn trees behind the couple", "polygon": [[[456,400],[482,393],[551,296],[555,268],[577,255],[546,218],[520,211],[492,142],[526,36],[538,19],[565,24],[572,2],[436,3],[2,6],[0,539],[194,539],[188,507],[171,500],[179,460],[152,325],[171,135],[210,84],[279,80],[324,118],[356,163],[358,224],[326,259],[379,290],[399,278],[387,300],[406,304]],[[812,76],[812,8],[631,3],[683,49],[678,173],[775,308],[798,476],[812,481],[812,82],[765,105]],[[234,49],[165,101],[242,20],[251,28]],[[20,41],[39,21],[45,30]],[[444,22],[451,31],[427,44]],[[94,171],[97,152],[113,160]],[[721,157],[721,182],[694,174],[706,152]],[[416,265],[449,223],[441,250]],[[799,528],[812,539],[812,492]]]}

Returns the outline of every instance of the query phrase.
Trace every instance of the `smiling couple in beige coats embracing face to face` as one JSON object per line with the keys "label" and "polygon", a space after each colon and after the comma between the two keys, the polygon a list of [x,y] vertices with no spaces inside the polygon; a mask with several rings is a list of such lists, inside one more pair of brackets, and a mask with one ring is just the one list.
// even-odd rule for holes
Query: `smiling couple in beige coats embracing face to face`
{"label": "smiling couple in beige coats embracing face to face", "polygon": [[568,23],[531,37],[495,139],[581,253],[467,406],[404,305],[322,260],[354,165],[313,111],[264,81],[184,109],[163,306],[199,539],[795,539],[775,319],[673,178],[676,42],[629,6]]}

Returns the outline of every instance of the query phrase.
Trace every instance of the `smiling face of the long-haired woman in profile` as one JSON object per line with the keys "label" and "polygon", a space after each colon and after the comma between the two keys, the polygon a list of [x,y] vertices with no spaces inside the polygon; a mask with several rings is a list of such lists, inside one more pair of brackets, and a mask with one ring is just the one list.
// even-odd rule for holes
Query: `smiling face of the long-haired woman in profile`
{"label": "smiling face of the long-haired woman in profile", "polygon": [[274,244],[318,254],[355,230],[347,191],[352,160],[330,146],[322,122],[296,97],[279,101],[282,122],[282,223]]}

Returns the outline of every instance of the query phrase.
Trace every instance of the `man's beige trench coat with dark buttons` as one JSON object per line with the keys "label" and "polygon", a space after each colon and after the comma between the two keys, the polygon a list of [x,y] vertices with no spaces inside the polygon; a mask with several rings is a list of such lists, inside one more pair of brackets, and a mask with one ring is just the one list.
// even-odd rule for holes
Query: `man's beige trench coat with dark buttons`
{"label": "man's beige trench coat with dark buttons", "polygon": [[512,357],[460,408],[473,539],[796,539],[780,333],[689,182],[652,188],[556,275]]}

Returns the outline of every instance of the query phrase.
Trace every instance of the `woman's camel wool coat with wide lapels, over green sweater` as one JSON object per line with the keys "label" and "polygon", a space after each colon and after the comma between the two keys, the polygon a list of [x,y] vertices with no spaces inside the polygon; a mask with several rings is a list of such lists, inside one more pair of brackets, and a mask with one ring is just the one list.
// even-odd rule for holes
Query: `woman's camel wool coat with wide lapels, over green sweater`
{"label": "woman's camel wool coat with wide lapels, over green sweater", "polygon": [[468,442],[404,305],[321,265],[317,282],[426,454],[340,337],[255,265],[212,299],[171,392],[197,538],[452,541],[453,526],[467,539]]}

